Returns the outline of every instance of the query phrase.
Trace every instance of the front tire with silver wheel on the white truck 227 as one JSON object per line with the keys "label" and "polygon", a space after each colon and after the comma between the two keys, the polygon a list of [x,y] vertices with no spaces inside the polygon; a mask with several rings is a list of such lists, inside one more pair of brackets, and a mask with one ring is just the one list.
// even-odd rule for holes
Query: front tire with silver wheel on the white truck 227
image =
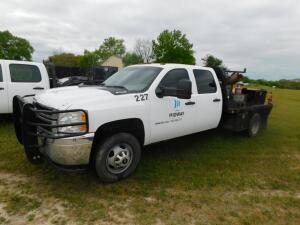
{"label": "front tire with silver wheel on the white truck 227", "polygon": [[141,159],[141,145],[133,135],[118,133],[96,147],[95,169],[99,179],[112,183],[130,176]]}

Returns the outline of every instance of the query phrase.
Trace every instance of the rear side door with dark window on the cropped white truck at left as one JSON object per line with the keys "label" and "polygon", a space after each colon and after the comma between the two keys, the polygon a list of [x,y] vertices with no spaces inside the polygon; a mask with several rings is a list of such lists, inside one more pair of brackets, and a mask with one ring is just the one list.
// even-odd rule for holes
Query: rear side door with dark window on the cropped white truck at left
{"label": "rear side door with dark window on the cropped white truck at left", "polygon": [[10,74],[8,83],[8,109],[10,112],[14,96],[35,95],[47,88],[38,65],[11,62],[8,63],[7,69]]}

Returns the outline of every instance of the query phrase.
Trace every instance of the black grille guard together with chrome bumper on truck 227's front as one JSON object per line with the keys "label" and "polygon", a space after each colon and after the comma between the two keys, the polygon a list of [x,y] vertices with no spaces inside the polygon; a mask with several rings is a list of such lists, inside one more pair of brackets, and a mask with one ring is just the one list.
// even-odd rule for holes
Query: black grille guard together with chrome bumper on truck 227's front
{"label": "black grille guard together with chrome bumper on truck 227's front", "polygon": [[[29,161],[37,164],[44,158],[64,170],[78,170],[89,164],[94,133],[88,132],[87,112],[81,109],[59,111],[38,103],[27,103],[19,96],[14,98],[13,108],[15,132]],[[56,123],[56,115],[74,111],[84,112],[86,122]],[[86,132],[58,132],[59,127],[82,124],[87,126]]]}

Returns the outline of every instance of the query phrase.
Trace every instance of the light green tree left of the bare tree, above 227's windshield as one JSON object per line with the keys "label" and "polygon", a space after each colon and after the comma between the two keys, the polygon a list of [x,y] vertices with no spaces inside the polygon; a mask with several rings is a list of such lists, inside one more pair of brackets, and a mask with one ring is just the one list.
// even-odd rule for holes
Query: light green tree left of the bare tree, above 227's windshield
{"label": "light green tree left of the bare tree, above 227's windshield", "polygon": [[105,61],[110,56],[121,57],[125,54],[125,45],[123,39],[117,39],[115,37],[109,37],[104,39],[102,45],[100,45],[96,54],[98,54],[102,61]]}

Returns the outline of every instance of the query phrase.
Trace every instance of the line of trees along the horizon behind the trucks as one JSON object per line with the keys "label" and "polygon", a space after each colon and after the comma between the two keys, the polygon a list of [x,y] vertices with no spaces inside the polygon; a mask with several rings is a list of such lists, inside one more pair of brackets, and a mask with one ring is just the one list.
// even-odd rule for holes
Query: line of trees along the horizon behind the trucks
{"label": "line of trees along the horizon behind the trucks", "polygon": [[[9,31],[0,31],[0,59],[31,61],[33,52],[34,48],[28,40],[14,36]],[[81,68],[101,65],[110,56],[120,57],[125,66],[152,62],[194,65],[196,63],[194,53],[193,44],[180,30],[164,30],[155,40],[136,40],[132,51],[126,51],[123,39],[108,37],[94,51],[85,49],[81,55],[58,52],[49,56],[48,60],[59,66]],[[213,55],[207,55],[202,61],[204,66],[226,68],[223,61]],[[300,81],[253,80],[245,77],[244,82],[271,87],[300,89]]]}

